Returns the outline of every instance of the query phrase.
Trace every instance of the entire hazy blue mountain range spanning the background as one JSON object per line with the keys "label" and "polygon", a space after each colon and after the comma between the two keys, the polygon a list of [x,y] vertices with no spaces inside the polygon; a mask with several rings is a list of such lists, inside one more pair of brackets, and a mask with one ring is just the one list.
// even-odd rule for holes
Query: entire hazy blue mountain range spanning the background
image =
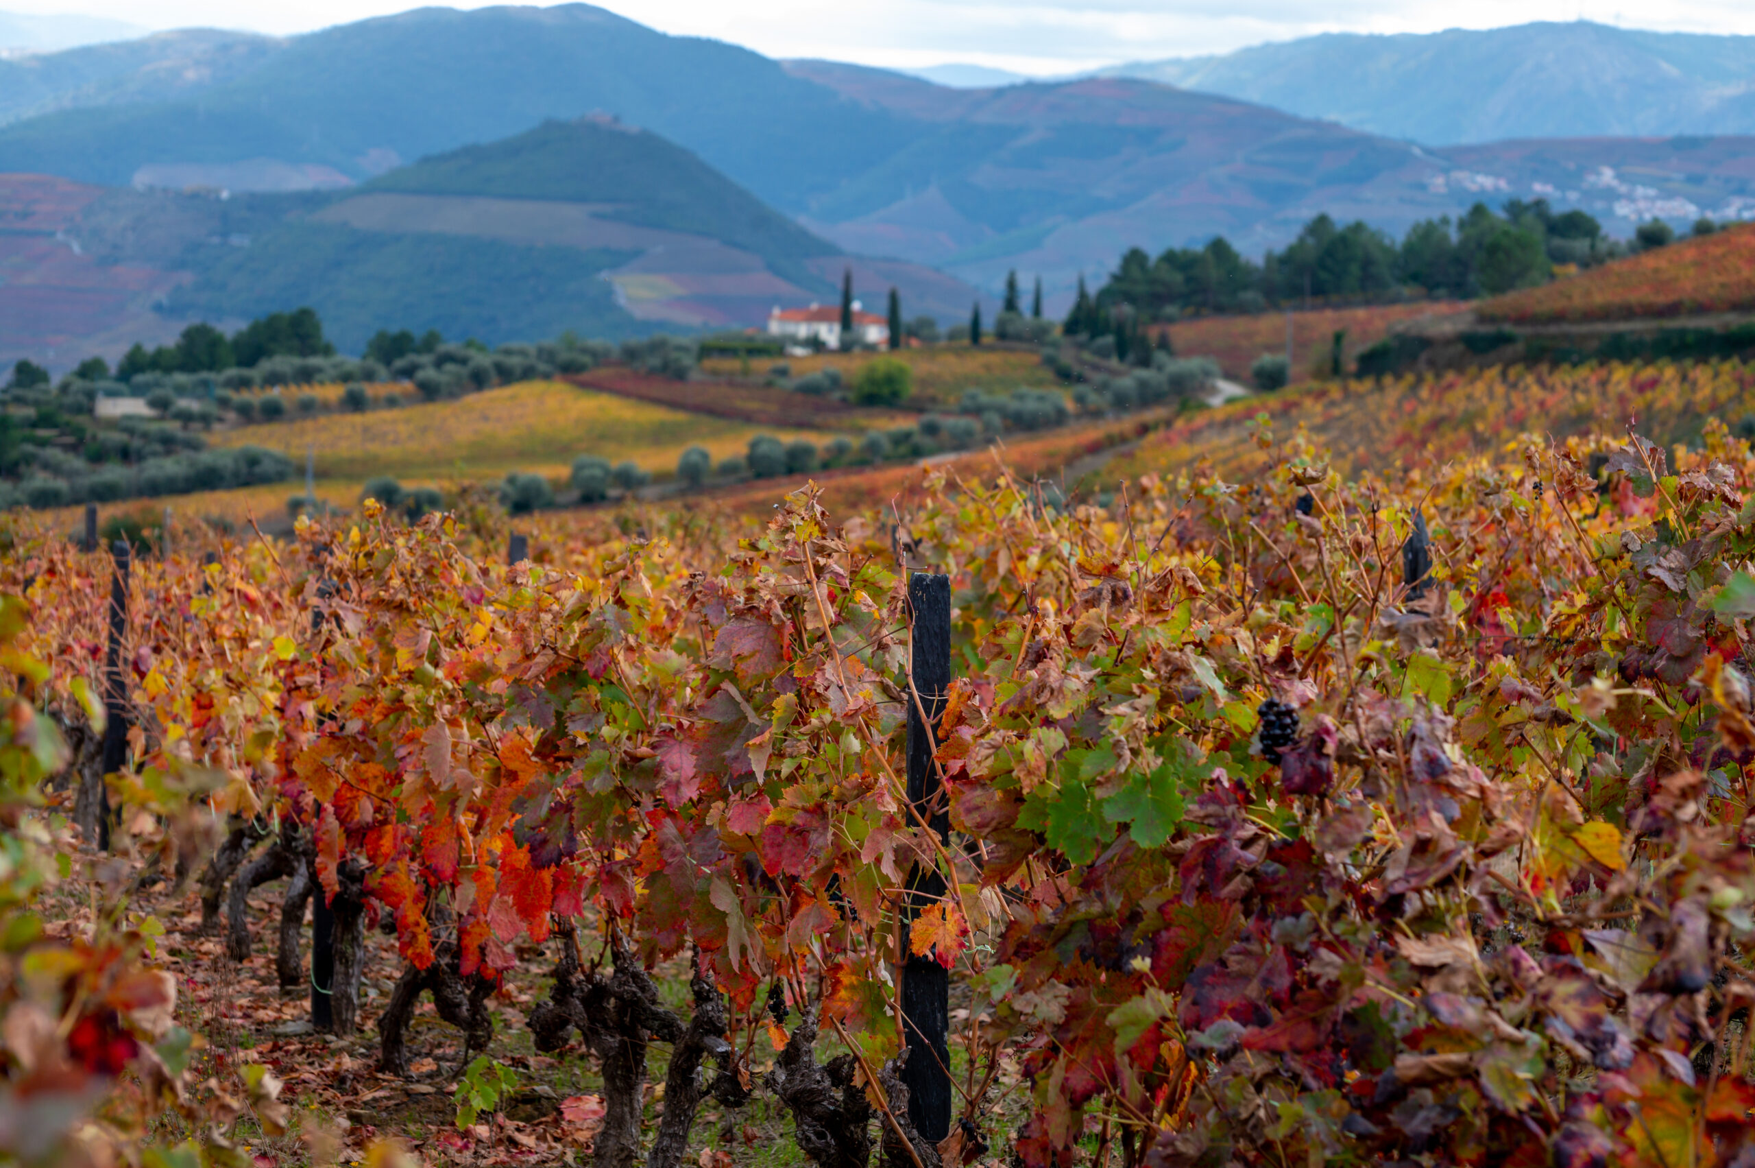
{"label": "entire hazy blue mountain range spanning the background", "polygon": [[[1128,246],[1157,251],[1225,234],[1260,253],[1318,213],[1393,234],[1513,197],[1583,207],[1622,235],[1653,216],[1678,225],[1701,214],[1755,218],[1755,137],[1723,133],[1755,132],[1755,121],[1739,121],[1750,97],[1736,81],[1750,44],[1530,25],[1314,37],[1114,76],[949,88],[834,61],[774,61],[583,4],[419,9],[284,39],[160,33],[0,60],[0,174],[75,184],[0,190],[0,318],[11,314],[11,327],[30,334],[30,313],[51,313],[42,306],[98,295],[86,276],[74,281],[77,295],[44,278],[35,300],[12,307],[30,272],[70,272],[67,263],[98,255],[158,272],[114,283],[137,288],[135,307],[160,304],[167,314],[244,314],[351,272],[346,311],[363,328],[372,320],[421,323],[409,314],[423,295],[469,283],[470,265],[488,265],[495,248],[523,248],[516,262],[502,255],[498,267],[479,270],[525,270],[525,285],[537,286],[530,281],[539,276],[560,279],[542,265],[560,256],[567,279],[583,272],[597,281],[574,281],[560,299],[574,297],[605,328],[630,330],[756,323],[770,293],[779,302],[828,299],[846,262],[867,265],[862,286],[907,285],[911,311],[962,314],[969,285],[992,293],[1011,269],[1041,274],[1055,309],[1079,274],[1100,279]],[[1143,77],[1169,72],[1176,84]],[[1223,86],[1257,88],[1211,91]],[[551,119],[614,123],[621,135],[644,128],[665,149],[641,151],[616,170],[635,191],[620,200],[602,186],[562,198],[541,183],[491,195],[397,188],[409,176],[426,183],[439,174],[437,160],[409,169],[416,160],[507,141],[526,149],[525,135]],[[1516,141],[1479,141],[1495,135]],[[576,156],[611,141],[588,139],[567,139]],[[1444,141],[1464,144],[1430,144]],[[676,148],[693,165],[665,153]],[[421,218],[386,211],[393,190],[477,202],[426,205]],[[221,191],[277,195],[226,200]],[[767,242],[755,246],[725,216],[693,228],[630,218],[665,198],[746,207],[755,216],[746,227],[760,227]],[[60,209],[19,211],[9,200]],[[721,295],[707,279],[706,256],[720,255],[713,248],[598,246],[604,214],[590,209],[598,202],[623,204],[611,216],[623,227],[683,232],[755,258],[725,272],[735,278]],[[82,209],[67,211],[74,204]],[[519,227],[519,207],[546,227]],[[356,235],[337,246],[342,228]],[[318,235],[328,242],[318,246]],[[414,256],[441,235],[453,241],[444,244],[449,267],[423,270]],[[579,262],[528,251],[548,246],[616,255]],[[37,258],[26,262],[26,251]],[[655,256],[684,253],[693,256],[686,270],[649,267],[669,263]],[[319,256],[353,265],[323,269]],[[377,256],[376,267],[362,267],[363,256]],[[851,256],[885,256],[890,274]],[[376,274],[365,279],[367,270]],[[758,276],[784,288],[758,292]],[[481,281],[484,290],[505,286]],[[593,300],[586,288],[607,299]],[[114,290],[104,295],[114,299]],[[432,314],[460,321],[467,299],[456,292]],[[474,302],[486,313],[490,299],[481,292]],[[51,334],[72,335],[42,332]]]}

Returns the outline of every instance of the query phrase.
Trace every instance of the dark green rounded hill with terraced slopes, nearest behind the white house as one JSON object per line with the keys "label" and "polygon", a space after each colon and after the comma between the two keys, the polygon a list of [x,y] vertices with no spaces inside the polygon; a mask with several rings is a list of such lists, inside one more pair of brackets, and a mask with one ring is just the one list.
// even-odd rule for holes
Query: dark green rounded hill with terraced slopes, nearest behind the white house
{"label": "dark green rounded hill with terraced slopes, nearest behind the white house", "polygon": [[[841,274],[909,313],[976,292],[848,256],[695,155],[607,118],[549,121],[332,193],[104,190],[0,176],[18,209],[0,283],[0,362],[116,357],[181,321],[309,304],[346,351],[379,328],[488,342],[572,328],[625,337],[760,325],[828,302]],[[53,351],[51,351],[53,350]]]}

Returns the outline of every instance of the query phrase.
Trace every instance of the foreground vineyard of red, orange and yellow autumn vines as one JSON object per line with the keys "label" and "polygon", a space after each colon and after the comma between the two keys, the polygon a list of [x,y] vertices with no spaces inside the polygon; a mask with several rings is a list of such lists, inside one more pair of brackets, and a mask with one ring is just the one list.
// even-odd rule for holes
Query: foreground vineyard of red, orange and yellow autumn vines
{"label": "foreground vineyard of red, orange and yellow autumn vines", "polygon": [[511,553],[9,520],[0,1159],[1750,1163],[1751,376]]}

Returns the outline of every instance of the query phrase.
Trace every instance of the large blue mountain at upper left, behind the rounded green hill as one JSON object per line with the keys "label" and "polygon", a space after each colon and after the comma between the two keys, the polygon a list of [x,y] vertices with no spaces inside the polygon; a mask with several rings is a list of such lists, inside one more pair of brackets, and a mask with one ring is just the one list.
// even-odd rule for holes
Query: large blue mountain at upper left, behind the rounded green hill
{"label": "large blue mountain at upper left, behind the rounded green hill", "polygon": [[[149,167],[277,160],[360,181],[546,118],[607,112],[795,213],[911,139],[902,119],[756,53],[584,4],[416,9],[246,44],[258,54],[246,68],[181,95],[116,104],[56,90],[65,109],[0,126],[0,172],[119,186]],[[160,72],[147,56],[130,76],[149,90]]]}

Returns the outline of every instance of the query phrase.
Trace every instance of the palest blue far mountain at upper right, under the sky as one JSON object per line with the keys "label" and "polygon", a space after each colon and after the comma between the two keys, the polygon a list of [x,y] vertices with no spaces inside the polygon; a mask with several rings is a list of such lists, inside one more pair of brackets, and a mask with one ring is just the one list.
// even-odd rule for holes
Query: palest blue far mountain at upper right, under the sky
{"label": "palest blue far mountain at upper right, under the sky", "polygon": [[1755,133],[1755,37],[1588,21],[1325,33],[1097,76],[1220,93],[1429,146]]}

